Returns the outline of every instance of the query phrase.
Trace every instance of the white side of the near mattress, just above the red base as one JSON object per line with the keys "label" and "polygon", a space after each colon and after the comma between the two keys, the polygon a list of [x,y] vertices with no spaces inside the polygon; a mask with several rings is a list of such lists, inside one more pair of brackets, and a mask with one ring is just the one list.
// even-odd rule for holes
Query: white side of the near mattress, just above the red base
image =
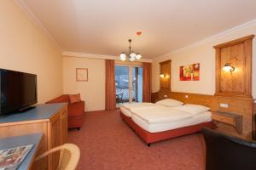
{"label": "white side of the near mattress, just above the red base", "polygon": [[201,113],[195,116],[192,116],[188,119],[183,119],[177,122],[162,122],[162,123],[148,123],[139,116],[132,114],[131,119],[133,122],[136,122],[138,126],[142,127],[144,130],[149,133],[159,133],[167,130],[176,129],[179,127],[188,127],[195,124],[199,124],[202,122],[211,122],[212,121],[212,113],[207,111],[205,113]]}

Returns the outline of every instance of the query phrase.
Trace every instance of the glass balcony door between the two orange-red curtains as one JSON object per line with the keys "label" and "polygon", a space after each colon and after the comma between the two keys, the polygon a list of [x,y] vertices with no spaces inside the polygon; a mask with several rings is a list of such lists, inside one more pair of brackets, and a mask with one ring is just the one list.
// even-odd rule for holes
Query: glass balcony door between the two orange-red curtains
{"label": "glass balcony door between the two orange-red curtains", "polygon": [[143,68],[134,65],[115,65],[116,103],[143,101]]}

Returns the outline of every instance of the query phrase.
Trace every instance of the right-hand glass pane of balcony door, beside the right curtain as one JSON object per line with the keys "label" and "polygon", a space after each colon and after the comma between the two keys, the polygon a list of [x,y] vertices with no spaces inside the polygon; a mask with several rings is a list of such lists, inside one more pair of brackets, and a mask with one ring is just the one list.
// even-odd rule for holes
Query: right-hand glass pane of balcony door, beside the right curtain
{"label": "right-hand glass pane of balcony door, beside the right curtain", "polygon": [[132,102],[143,102],[143,68],[131,67],[131,98]]}

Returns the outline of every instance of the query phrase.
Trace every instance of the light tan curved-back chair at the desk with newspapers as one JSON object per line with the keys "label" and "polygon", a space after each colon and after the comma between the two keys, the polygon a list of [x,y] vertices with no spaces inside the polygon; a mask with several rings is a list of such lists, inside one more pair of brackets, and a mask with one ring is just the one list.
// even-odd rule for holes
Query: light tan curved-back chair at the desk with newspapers
{"label": "light tan curved-back chair at the desk with newspapers", "polygon": [[79,147],[75,144],[63,144],[52,148],[41,156],[38,156],[35,161],[38,161],[45,156],[49,156],[56,151],[60,151],[60,160],[56,170],[75,170],[80,159]]}

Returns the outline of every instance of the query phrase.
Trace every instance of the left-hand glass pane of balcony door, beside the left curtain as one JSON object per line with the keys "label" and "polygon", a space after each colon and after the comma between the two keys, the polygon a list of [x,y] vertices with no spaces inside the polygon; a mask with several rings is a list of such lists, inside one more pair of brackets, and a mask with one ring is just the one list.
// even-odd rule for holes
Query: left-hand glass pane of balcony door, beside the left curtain
{"label": "left-hand glass pane of balcony door, beside the left curtain", "polygon": [[129,66],[115,66],[115,89],[116,103],[129,102],[130,99],[130,77]]}

